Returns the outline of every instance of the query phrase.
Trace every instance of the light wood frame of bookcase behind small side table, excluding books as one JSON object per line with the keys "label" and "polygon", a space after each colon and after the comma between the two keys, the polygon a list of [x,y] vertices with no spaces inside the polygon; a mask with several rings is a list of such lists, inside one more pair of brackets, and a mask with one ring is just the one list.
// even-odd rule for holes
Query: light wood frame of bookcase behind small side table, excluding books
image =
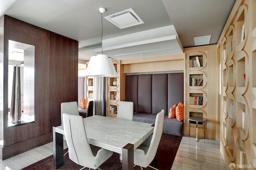
{"label": "light wood frame of bookcase behind small side table, excluding books", "polygon": [[[198,51],[196,51],[198,49]],[[184,75],[186,76],[186,84],[184,92],[186,94],[186,105],[184,105],[184,134],[194,135],[196,134],[196,125],[189,124],[189,117],[203,117],[208,119],[207,113],[207,90],[208,90],[208,79],[207,79],[207,51],[208,47],[198,47],[198,48],[188,48],[185,49],[185,61],[186,66],[184,69]],[[202,51],[201,51],[202,50]],[[196,60],[196,56],[198,56],[201,67],[191,67],[191,60]],[[192,61],[193,62],[193,61]],[[194,78],[196,81],[199,79],[203,79],[200,86],[194,86],[193,83],[190,83],[190,79]],[[191,97],[203,97],[201,105],[195,105],[191,100]],[[186,119],[185,119],[186,118]],[[208,123],[206,123],[206,134],[207,130],[209,130]],[[204,136],[204,127],[203,125],[199,125],[198,128],[198,136]],[[211,138],[206,135],[206,138]]]}

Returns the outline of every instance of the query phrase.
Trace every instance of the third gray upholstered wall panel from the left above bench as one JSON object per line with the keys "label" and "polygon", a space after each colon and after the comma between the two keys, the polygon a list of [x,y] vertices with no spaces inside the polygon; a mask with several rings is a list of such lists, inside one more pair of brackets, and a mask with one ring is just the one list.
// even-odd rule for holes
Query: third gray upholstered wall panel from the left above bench
{"label": "third gray upholstered wall panel from the left above bench", "polygon": [[152,113],[157,114],[164,109],[167,115],[168,110],[168,74],[152,75]]}

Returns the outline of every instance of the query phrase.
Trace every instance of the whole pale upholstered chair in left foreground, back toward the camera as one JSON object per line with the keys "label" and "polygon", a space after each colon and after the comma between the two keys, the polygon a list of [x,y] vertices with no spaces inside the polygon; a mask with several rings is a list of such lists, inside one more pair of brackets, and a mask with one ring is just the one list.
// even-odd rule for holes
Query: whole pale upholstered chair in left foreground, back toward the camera
{"label": "whole pale upholstered chair in left foreground, back toward the camera", "polygon": [[101,164],[112,156],[113,152],[89,144],[82,116],[68,115],[66,113],[63,113],[62,116],[70,160],[84,166],[84,168],[89,168],[89,170],[91,168],[98,169]]}

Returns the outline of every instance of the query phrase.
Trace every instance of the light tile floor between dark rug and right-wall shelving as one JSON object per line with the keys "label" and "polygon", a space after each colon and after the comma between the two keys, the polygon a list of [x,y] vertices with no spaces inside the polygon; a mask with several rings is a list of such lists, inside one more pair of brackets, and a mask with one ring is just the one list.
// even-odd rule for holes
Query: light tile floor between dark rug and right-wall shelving
{"label": "light tile floor between dark rug and right-wall shelving", "polygon": [[196,139],[184,135],[171,170],[226,170],[220,140]]}

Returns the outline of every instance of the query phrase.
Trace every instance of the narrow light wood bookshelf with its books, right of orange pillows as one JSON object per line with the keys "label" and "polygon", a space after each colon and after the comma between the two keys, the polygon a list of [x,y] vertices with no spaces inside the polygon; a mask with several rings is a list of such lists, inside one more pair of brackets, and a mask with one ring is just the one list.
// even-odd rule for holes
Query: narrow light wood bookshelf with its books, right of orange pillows
{"label": "narrow light wood bookshelf with its books, right of orange pillows", "polygon": [[[186,127],[188,133],[196,134],[196,125],[188,120],[189,117],[207,117],[207,56],[208,47],[201,47],[202,51],[186,53]],[[198,67],[200,64],[200,67]],[[207,129],[212,132],[213,129]],[[210,125],[211,126],[211,125]],[[204,137],[204,127],[199,125],[198,136]],[[206,138],[208,134],[206,133]]]}

